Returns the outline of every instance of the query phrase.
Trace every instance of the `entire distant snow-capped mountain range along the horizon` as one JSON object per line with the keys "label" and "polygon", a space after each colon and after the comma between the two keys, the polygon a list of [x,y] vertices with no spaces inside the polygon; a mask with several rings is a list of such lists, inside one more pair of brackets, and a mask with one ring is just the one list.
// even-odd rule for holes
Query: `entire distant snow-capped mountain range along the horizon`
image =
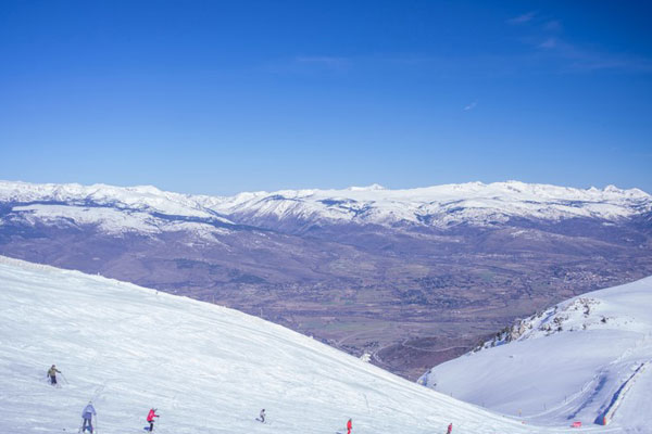
{"label": "entire distant snow-capped mountain range along the horizon", "polygon": [[[39,215],[62,215],[64,203],[125,212],[149,212],[229,224],[229,220],[267,226],[274,222],[417,225],[448,228],[462,222],[487,226],[511,218],[557,221],[567,218],[618,220],[652,209],[652,196],[641,190],[603,190],[527,184],[517,181],[484,184],[436,186],[412,190],[386,190],[380,186],[344,190],[284,190],[241,193],[231,197],[186,195],[154,187],[118,188],[104,184],[32,184],[0,182],[0,202],[38,204]],[[43,204],[48,203],[48,204]],[[34,206],[34,205],[33,205]],[[76,219],[79,212],[68,213]],[[106,216],[98,215],[99,221]],[[141,224],[143,225],[143,224]]]}

